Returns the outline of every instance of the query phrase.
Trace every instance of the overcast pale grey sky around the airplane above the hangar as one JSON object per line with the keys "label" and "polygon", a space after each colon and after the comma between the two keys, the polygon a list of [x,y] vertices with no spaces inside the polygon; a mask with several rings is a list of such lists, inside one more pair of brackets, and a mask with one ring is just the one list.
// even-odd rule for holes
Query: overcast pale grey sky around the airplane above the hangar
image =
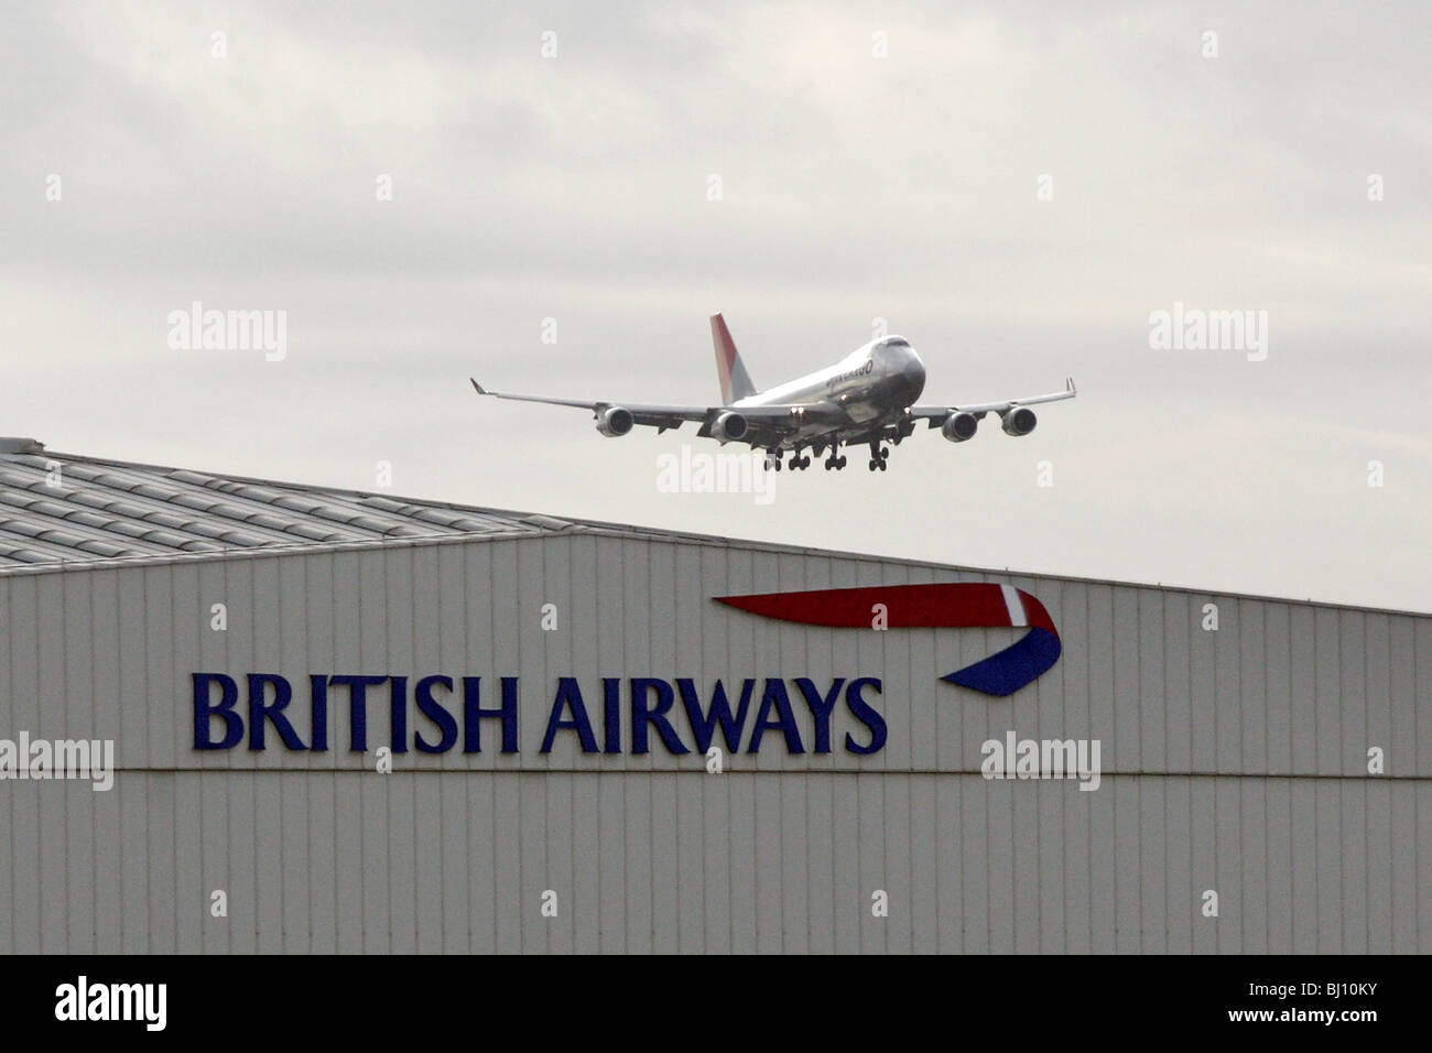
{"label": "overcast pale grey sky around the airplane above the hangar", "polygon": [[[1429,40],[1419,3],[7,4],[0,434],[1432,610]],[[170,348],[192,301],[285,311],[286,357]],[[1151,350],[1176,301],[1266,311],[1266,361]],[[760,506],[657,491],[690,427],[467,384],[716,401],[715,311],[758,385],[885,318],[922,401],[1080,397]]]}

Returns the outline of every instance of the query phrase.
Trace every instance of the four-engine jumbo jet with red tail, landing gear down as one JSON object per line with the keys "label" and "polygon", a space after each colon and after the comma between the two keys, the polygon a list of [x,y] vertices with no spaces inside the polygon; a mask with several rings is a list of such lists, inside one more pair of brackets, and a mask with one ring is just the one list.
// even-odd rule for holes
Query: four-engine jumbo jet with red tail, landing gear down
{"label": "four-engine jumbo jet with red tail, landing gear down", "polygon": [[719,405],[644,405],[636,403],[581,401],[547,398],[544,395],[514,395],[488,391],[473,380],[480,395],[511,398],[521,403],[574,405],[589,410],[597,421],[597,431],[609,438],[627,434],[634,425],[654,427],[657,434],[679,428],[686,421],[700,427],[696,434],[726,443],[745,443],[766,451],[766,470],[780,471],[782,451],[790,453],[789,467],[809,468],[813,450],[825,456],[826,471],[843,468],[845,446],[868,444],[869,470],[885,471],[889,446],[899,446],[914,433],[916,421],[928,421],[939,428],[951,443],[974,437],[985,414],[1000,415],[1000,427],[1008,436],[1034,431],[1031,405],[1074,398],[1074,378],[1064,381],[1063,391],[1005,403],[975,403],[968,405],[916,405],[925,390],[925,364],[904,337],[879,337],[848,354],[825,370],[806,374],[788,384],[758,391],[746,371],[736,342],[730,338],[726,319],[720,314],[710,318],[712,344],[716,348],[716,372],[720,377]]}

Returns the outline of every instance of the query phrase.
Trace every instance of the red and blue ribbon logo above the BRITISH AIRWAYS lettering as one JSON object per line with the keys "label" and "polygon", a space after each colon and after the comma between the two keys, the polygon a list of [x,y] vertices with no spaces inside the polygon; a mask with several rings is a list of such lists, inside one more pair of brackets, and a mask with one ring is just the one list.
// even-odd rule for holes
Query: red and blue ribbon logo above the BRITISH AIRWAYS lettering
{"label": "red and blue ribbon logo above the BRITISH AIRWAYS lettering", "polygon": [[716,600],[763,617],[832,629],[869,629],[878,603],[884,605],[885,625],[891,629],[1028,626],[1030,632],[1004,650],[939,678],[1001,698],[1053,669],[1063,650],[1050,612],[1034,596],[1012,585],[878,585],[863,589],[716,596]]}

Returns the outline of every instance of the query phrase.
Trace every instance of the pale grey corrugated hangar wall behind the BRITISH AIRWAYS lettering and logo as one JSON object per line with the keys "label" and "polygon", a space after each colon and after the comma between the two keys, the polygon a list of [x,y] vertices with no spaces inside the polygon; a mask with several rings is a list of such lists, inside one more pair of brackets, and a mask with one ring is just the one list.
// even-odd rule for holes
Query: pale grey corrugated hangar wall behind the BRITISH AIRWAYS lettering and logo
{"label": "pale grey corrugated hangar wall behind the BRITISH AIRWAYS lettering and logo", "polygon": [[[938,676],[1012,630],[712,602],[935,580],[1034,593],[1058,665],[990,699]],[[1426,953],[1429,655],[1428,616],[600,532],[6,573],[0,736],[113,738],[122,769],[110,792],[0,782],[0,951]],[[379,775],[335,708],[326,754],[200,754],[199,670],[284,673],[305,736],[311,672],[518,675],[523,752]],[[563,675],[862,673],[872,756],[537,752]],[[1101,787],[985,781],[979,745],[1011,729],[1101,739]]]}

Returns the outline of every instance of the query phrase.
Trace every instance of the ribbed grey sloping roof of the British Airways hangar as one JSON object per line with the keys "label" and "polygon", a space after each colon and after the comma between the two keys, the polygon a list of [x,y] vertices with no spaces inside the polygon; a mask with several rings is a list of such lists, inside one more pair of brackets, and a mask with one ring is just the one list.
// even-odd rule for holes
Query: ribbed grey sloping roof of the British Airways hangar
{"label": "ribbed grey sloping roof of the British Airways hangar", "polygon": [[281,546],[560,532],[573,521],[53,453],[0,438],[7,569]]}

